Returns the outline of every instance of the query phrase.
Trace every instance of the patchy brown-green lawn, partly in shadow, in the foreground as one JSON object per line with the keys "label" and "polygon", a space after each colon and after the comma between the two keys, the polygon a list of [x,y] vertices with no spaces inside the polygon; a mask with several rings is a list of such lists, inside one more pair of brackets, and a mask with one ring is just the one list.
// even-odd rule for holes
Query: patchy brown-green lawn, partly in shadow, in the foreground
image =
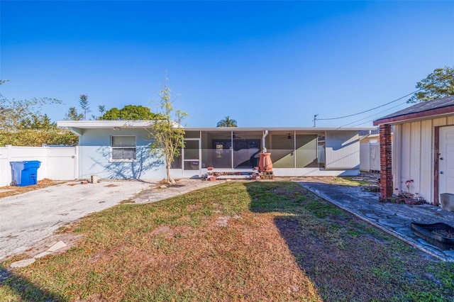
{"label": "patchy brown-green lawn, partly in shadow, in the foreground", "polygon": [[289,181],[232,181],[68,225],[0,301],[453,301],[454,264]]}

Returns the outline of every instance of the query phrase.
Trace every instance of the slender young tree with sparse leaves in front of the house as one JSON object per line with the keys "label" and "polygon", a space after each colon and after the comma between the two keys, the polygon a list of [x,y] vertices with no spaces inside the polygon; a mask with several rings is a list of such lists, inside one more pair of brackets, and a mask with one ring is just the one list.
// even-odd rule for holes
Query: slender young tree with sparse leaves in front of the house
{"label": "slender young tree with sparse leaves in front of the house", "polygon": [[[158,107],[160,113],[157,114],[157,119],[151,124],[152,130],[150,137],[153,138],[151,145],[151,153],[158,157],[165,157],[165,168],[167,171],[167,182],[169,184],[175,183],[170,177],[170,167],[175,157],[181,153],[184,147],[184,128],[182,123],[187,118],[187,113],[183,111],[174,111],[172,103],[175,99],[171,99],[170,87],[167,87],[166,81],[164,87],[160,91],[160,101]],[[172,120],[172,118],[174,118]]]}

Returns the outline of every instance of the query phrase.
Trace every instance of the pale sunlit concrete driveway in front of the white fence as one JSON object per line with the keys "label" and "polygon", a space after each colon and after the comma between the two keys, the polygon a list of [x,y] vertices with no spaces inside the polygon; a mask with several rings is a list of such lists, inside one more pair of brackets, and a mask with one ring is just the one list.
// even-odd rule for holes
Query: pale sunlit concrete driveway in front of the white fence
{"label": "pale sunlit concrete driveway in front of the white fence", "polygon": [[104,210],[157,182],[68,182],[0,199],[0,260],[29,250],[57,228]]}

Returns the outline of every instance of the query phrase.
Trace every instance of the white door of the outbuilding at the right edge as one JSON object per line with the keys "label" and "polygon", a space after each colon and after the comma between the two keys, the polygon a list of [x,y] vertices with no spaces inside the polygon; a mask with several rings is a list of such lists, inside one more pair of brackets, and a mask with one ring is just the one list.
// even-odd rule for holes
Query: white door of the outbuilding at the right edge
{"label": "white door of the outbuilding at the right edge", "polygon": [[454,126],[440,128],[438,193],[454,194]]}

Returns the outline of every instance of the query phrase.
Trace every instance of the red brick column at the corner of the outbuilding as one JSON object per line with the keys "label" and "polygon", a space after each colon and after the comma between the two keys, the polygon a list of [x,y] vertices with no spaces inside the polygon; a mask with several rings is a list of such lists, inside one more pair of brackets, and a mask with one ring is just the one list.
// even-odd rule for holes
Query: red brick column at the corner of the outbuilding
{"label": "red brick column at the corner of the outbuilding", "polygon": [[391,125],[380,125],[380,191],[381,199],[392,196]]}

